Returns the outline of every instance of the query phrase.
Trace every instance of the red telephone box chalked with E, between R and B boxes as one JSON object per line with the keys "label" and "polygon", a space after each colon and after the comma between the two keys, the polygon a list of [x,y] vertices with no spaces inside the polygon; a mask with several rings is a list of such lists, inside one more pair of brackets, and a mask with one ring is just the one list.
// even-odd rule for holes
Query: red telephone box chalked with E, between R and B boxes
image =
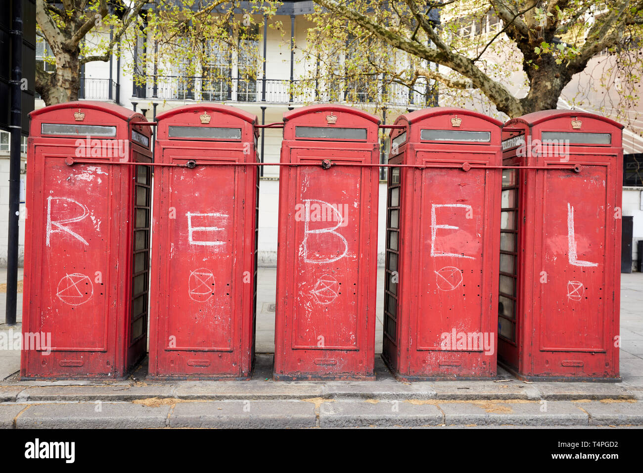
{"label": "red telephone box chalked with E, between R and B boxes", "polygon": [[[248,378],[255,358],[257,116],[158,116],[150,376]],[[195,165],[193,164],[195,162]]]}

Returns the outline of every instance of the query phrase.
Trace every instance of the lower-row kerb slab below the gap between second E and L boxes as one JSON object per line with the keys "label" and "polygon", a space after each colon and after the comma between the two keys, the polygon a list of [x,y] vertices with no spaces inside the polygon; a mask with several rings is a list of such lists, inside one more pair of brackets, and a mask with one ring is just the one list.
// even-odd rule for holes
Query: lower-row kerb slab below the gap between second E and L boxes
{"label": "lower-row kerb slab below the gap between second E and L boxes", "polygon": [[446,425],[588,425],[570,401],[439,402]]}

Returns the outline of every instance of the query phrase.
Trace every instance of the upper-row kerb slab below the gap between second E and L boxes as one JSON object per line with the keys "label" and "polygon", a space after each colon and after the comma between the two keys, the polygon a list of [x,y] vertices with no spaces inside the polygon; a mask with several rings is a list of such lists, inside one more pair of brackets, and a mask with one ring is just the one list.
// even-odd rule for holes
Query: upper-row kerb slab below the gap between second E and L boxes
{"label": "upper-row kerb slab below the gap between second E and L boxes", "polygon": [[538,399],[534,384],[513,379],[493,381],[435,381],[436,399]]}

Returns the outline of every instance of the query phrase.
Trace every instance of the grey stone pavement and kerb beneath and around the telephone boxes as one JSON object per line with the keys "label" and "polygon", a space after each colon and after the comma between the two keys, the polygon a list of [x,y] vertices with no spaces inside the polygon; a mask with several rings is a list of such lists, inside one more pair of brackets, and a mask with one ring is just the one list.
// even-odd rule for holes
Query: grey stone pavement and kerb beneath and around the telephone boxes
{"label": "grey stone pavement and kerb beneath and around the telephone boxes", "polygon": [[[496,381],[402,383],[379,356],[374,382],[273,382],[275,268],[258,277],[251,380],[151,381],[144,362],[115,382],[21,382],[19,352],[0,351],[0,427],[643,426],[643,274],[622,275],[622,383],[527,383],[503,369]],[[376,347],[382,313],[379,297]]]}

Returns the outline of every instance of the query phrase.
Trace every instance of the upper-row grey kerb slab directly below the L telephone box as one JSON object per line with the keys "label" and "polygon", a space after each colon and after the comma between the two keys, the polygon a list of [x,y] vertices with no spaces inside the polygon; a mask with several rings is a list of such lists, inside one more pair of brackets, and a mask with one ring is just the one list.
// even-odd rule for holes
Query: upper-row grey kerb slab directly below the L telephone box
{"label": "upper-row grey kerb slab directly below the L telephone box", "polygon": [[623,383],[534,382],[540,397],[547,400],[632,399],[634,395]]}

